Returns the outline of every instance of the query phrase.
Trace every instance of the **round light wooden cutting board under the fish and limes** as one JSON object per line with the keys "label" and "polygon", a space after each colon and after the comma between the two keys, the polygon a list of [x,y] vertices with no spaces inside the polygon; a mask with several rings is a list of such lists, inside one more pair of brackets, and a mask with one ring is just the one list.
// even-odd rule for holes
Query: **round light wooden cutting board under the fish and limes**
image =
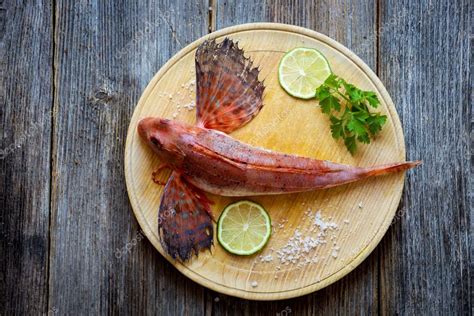
{"label": "round light wooden cutting board under the fish and limes", "polygon": [[[139,138],[137,122],[157,116],[194,123],[194,53],[205,39],[219,42],[224,37],[239,42],[246,56],[260,67],[260,79],[265,79],[262,111],[232,137],[279,152],[354,166],[405,160],[395,107],[380,80],[351,51],[300,27],[240,25],[207,35],[182,49],[161,68],[140,98],[125,148],[125,175],[133,211],[158,251],[184,275],[212,290],[254,300],[286,299],[316,291],[353,270],[379,243],[399,204],[403,173],[309,193],[252,198],[268,210],[273,234],[263,251],[251,257],[231,255],[214,240],[211,252],[202,251],[183,264],[172,260],[160,245],[158,208],[163,187],[151,178],[159,161]],[[388,121],[380,136],[370,145],[360,146],[356,155],[351,156],[344,144],[331,137],[329,120],[316,101],[292,98],[278,84],[278,63],[295,47],[320,50],[337,75],[378,94],[379,111]],[[212,212],[216,219],[225,205],[236,200],[208,197],[215,202]]]}

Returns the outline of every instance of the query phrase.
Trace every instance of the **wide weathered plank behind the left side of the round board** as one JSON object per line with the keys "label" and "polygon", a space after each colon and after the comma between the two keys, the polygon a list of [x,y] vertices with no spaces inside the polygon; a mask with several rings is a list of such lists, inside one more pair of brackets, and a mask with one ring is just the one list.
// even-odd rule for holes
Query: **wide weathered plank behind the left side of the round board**
{"label": "wide weathered plank behind the left side of the round board", "polygon": [[152,76],[207,33],[207,4],[58,1],[55,9],[49,305],[60,314],[202,314],[203,288],[139,233],[123,149]]}

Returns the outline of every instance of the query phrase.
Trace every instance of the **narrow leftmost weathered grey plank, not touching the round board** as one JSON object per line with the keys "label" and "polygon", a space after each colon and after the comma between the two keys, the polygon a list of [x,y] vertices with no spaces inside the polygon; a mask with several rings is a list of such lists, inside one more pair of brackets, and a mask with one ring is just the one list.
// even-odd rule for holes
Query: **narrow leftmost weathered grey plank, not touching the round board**
{"label": "narrow leftmost weathered grey plank, not touching the round board", "polygon": [[0,1],[0,314],[47,313],[52,7]]}

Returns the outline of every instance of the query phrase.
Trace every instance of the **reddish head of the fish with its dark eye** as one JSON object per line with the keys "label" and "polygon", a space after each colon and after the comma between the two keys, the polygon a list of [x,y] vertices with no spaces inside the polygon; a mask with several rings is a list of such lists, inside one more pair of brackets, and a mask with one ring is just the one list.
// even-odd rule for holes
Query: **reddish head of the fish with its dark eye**
{"label": "reddish head of the fish with its dark eye", "polygon": [[183,146],[190,133],[190,125],[168,119],[147,117],[138,122],[140,137],[170,166],[179,167],[183,161]]}

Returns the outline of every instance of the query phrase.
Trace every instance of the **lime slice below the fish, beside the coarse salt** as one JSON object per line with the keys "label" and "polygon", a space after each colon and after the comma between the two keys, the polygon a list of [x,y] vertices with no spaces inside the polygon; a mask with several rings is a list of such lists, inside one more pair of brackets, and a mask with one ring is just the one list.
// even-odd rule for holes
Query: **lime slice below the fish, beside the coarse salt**
{"label": "lime slice below the fish, beside the coarse salt", "polygon": [[230,253],[252,255],[270,238],[271,220],[265,209],[252,201],[238,201],[222,211],[217,222],[217,240]]}

